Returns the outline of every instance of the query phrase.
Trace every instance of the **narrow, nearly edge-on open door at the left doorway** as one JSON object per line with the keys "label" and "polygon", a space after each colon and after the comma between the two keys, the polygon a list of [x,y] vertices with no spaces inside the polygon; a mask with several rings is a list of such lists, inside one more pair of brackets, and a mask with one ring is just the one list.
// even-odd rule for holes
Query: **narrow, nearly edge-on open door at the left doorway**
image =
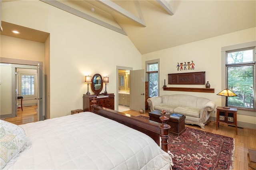
{"label": "narrow, nearly edge-on open door at the left doorway", "polygon": [[43,116],[43,76],[42,76],[42,66],[38,64],[37,67],[37,121],[44,120]]}

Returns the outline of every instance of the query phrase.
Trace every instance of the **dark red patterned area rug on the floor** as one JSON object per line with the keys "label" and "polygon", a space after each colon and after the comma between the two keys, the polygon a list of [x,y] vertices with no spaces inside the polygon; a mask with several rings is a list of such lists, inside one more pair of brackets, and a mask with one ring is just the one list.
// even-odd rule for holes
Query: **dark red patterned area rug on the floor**
{"label": "dark red patterned area rug on the floor", "polygon": [[169,133],[172,170],[231,170],[234,138],[186,127],[179,137]]}

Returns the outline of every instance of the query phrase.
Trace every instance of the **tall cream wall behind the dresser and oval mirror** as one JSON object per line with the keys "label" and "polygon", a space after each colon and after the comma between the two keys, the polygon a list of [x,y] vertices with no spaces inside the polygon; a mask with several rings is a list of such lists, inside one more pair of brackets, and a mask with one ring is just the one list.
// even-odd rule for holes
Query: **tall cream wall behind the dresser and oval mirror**
{"label": "tall cream wall behind the dresser and oval mirror", "polygon": [[44,2],[5,2],[2,20],[50,33],[50,118],[82,109],[85,75],[108,76],[108,92],[115,93],[116,66],[141,68],[141,54],[127,36]]}

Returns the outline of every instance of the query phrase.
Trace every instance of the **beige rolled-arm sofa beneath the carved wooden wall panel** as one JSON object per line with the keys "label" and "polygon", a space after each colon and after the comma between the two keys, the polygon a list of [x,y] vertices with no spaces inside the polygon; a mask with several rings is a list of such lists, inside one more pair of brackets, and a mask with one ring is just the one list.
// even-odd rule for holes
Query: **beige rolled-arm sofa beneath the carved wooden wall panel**
{"label": "beige rolled-arm sofa beneath the carved wooden wall panel", "polygon": [[185,123],[196,124],[204,129],[215,103],[207,98],[198,98],[186,94],[163,95],[149,98],[150,110],[170,110],[170,113],[186,115]]}

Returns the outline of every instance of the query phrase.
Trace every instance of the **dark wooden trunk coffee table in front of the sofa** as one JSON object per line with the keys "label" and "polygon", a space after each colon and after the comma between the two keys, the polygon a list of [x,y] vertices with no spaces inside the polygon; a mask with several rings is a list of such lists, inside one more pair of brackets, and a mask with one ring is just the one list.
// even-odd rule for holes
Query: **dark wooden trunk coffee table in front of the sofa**
{"label": "dark wooden trunk coffee table in front of the sofa", "polygon": [[[148,115],[149,115],[150,120],[161,123],[161,121],[159,119],[159,117],[162,116],[160,110],[150,111],[148,113]],[[169,117],[169,115],[166,115],[166,116]],[[182,132],[184,132],[185,131],[185,118],[186,118],[185,115],[180,117],[180,119],[169,117],[169,120],[167,121],[167,124],[171,126],[171,128],[169,129],[169,132],[175,133],[177,135],[180,135]]]}

